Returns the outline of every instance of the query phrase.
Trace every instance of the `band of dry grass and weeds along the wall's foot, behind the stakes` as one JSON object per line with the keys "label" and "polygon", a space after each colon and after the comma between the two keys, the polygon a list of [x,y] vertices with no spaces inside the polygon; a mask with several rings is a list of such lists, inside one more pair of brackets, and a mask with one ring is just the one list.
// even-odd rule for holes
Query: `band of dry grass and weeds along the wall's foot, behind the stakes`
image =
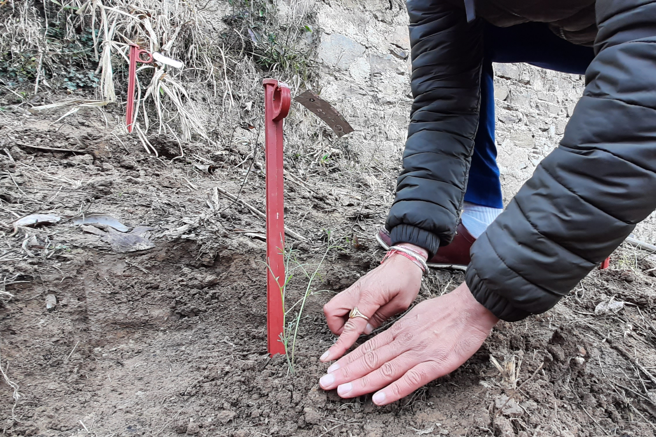
{"label": "band of dry grass and weeds along the wall's foot, behind the stakes", "polygon": [[[12,22],[12,38],[3,39],[0,52],[38,54],[43,48],[38,74],[45,82],[41,80],[37,88],[43,89],[46,84],[54,87],[48,72],[54,71],[52,66],[62,50],[54,47],[52,39],[43,37],[45,20],[31,1],[12,3],[14,12],[8,17],[20,20]],[[205,0],[48,3],[47,13],[60,16],[58,21],[64,23],[64,37],[73,39],[75,29],[80,27],[94,29],[90,33],[93,44],[84,62],[87,69],[98,73],[93,96],[85,90],[77,94],[87,96],[75,99],[52,97],[56,104],[66,106],[59,109],[62,114],[55,123],[65,123],[68,115],[89,105],[98,105],[104,111],[102,105],[108,104],[107,110],[112,111],[121,104],[127,88],[128,44],[138,43],[184,62],[179,70],[138,65],[134,135],[144,149],[156,156],[149,138],[164,134],[181,144],[181,156],[207,164],[215,161],[214,153],[232,151],[236,142],[246,142],[251,151],[239,157],[234,171],[241,173],[251,164],[261,166],[256,162],[256,149],[262,147],[262,139],[253,140],[238,126],[260,125],[264,77],[281,79],[291,86],[293,94],[308,88],[320,90],[316,81],[318,66],[313,61],[318,44],[314,34],[319,29],[313,3],[308,0],[242,1],[211,5]],[[347,79],[340,74],[340,80]],[[324,179],[338,169],[342,173],[342,191],[353,185],[367,191],[358,203],[389,204],[393,195],[391,181],[405,135],[405,120],[392,119],[405,113],[407,102],[402,102],[403,98],[380,102],[370,90],[357,83],[352,86],[365,96],[363,102],[344,101],[337,107],[347,119],[355,121],[356,132],[337,138],[317,117],[295,104],[285,121],[287,162],[294,176],[305,181]],[[44,103],[31,107],[31,111],[56,110],[49,102]],[[125,110],[124,106],[115,109],[121,115]],[[104,113],[98,117],[104,117]],[[113,134],[127,135],[123,123],[117,124]]]}

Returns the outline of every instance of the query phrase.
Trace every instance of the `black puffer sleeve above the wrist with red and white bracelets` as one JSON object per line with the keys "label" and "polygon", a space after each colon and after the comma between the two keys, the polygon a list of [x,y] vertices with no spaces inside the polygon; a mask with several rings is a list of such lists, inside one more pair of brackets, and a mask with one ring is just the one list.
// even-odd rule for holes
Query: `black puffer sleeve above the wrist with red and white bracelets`
{"label": "black puffer sleeve above the wrist with red and white bracelets", "polygon": [[435,254],[455,233],[478,127],[482,22],[445,0],[409,0],[412,92],[403,172],[387,219],[392,244]]}

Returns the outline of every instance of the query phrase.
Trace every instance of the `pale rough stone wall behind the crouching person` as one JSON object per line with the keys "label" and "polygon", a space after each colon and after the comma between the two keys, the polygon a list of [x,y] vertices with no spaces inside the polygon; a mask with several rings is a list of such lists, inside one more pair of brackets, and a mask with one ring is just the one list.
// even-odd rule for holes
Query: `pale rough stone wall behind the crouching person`
{"label": "pale rough stone wall behind the crouching person", "polygon": [[[398,1],[350,0],[316,5],[321,96],[356,128],[354,150],[386,164],[396,178],[411,107],[407,12]],[[495,64],[497,147],[504,202],[560,142],[583,93],[584,77],[527,64]],[[647,195],[647,193],[646,193]],[[656,214],[636,229],[656,240]]]}

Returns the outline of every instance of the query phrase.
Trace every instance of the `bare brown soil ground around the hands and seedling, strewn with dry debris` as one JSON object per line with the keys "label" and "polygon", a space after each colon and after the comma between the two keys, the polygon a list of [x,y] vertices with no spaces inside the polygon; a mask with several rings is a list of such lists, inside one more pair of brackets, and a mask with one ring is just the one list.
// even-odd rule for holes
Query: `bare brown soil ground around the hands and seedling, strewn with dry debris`
{"label": "bare brown soil ground around the hands and seedling, strewn with dry debris", "polygon": [[[1,220],[15,218],[10,211],[104,212],[154,228],[145,235],[155,248],[117,254],[66,219],[4,232],[3,277],[22,281],[7,286],[14,297],[0,309],[0,363],[20,394],[14,405],[3,382],[4,434],[654,435],[656,384],[636,368],[656,375],[656,281],[644,273],[656,264],[646,253],[621,248],[610,269],[594,271],[552,311],[500,323],[464,366],[400,402],[342,400],[318,387],[327,367],[318,356],[335,339],[321,307],[382,256],[371,235],[384,220],[394,170],[374,186],[345,157],[302,172],[289,162],[304,181],[288,181],[286,200],[289,227],[309,238],[288,240],[299,261],[318,263],[329,240],[340,244],[312,287],[325,291],[308,298],[290,373],[285,358],[266,354],[264,242],[240,232],[261,232],[264,223],[223,196],[218,212],[209,206],[217,185],[239,192],[255,132],[237,132],[236,146],[222,151],[185,145],[187,156],[173,159],[176,143],[153,139],[163,155],[155,158],[92,123],[75,115],[58,130],[17,118],[0,128],[16,160],[1,161]],[[194,166],[210,163],[211,174]],[[264,210],[258,164],[241,197]],[[16,184],[55,191],[7,187]],[[22,246],[31,235],[46,249]],[[435,271],[420,299],[461,281]],[[287,301],[305,286],[293,280]],[[57,299],[52,311],[49,294]],[[625,307],[596,314],[611,298]]]}

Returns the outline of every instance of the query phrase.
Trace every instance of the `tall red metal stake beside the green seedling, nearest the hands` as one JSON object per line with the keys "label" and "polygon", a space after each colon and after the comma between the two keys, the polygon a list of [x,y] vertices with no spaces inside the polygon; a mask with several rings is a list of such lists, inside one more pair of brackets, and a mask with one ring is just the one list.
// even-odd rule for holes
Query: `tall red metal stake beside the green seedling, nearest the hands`
{"label": "tall red metal stake beside the green seedling, nearest the hands", "polygon": [[264,79],[266,142],[266,332],[271,356],[285,354],[281,341],[285,309],[285,225],[283,197],[283,119],[289,113],[291,91],[276,79]]}

